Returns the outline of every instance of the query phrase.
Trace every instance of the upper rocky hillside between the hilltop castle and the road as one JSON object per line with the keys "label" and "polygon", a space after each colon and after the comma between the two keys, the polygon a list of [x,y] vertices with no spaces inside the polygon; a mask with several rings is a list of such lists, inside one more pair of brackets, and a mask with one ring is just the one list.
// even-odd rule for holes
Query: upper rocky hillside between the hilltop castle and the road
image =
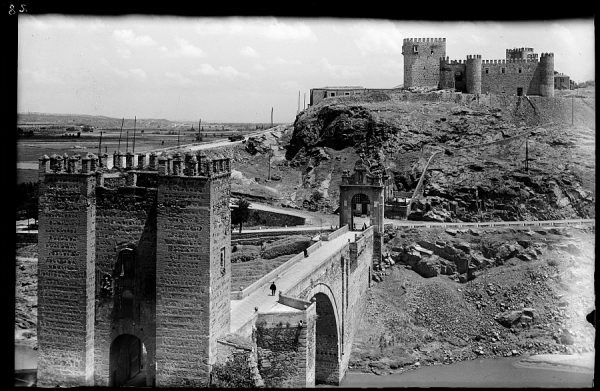
{"label": "upper rocky hillside between the hilltop castle and the road", "polygon": [[339,170],[351,169],[359,155],[383,162],[399,190],[413,191],[427,160],[442,151],[427,170],[412,219],[593,217],[594,121],[593,95],[329,98],[297,116],[285,163],[300,169],[304,193],[327,188],[333,197],[325,207],[333,210]]}

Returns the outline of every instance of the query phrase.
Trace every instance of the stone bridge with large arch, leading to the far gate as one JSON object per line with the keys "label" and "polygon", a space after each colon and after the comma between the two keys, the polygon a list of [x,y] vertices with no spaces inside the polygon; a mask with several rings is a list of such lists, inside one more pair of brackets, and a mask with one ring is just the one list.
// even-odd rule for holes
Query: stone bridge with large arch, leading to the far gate
{"label": "stone bridge with large arch, leading to the far gate", "polygon": [[[339,384],[370,286],[373,226],[323,234],[231,301],[232,334],[252,340],[267,387]],[[278,293],[270,296],[275,281]]]}

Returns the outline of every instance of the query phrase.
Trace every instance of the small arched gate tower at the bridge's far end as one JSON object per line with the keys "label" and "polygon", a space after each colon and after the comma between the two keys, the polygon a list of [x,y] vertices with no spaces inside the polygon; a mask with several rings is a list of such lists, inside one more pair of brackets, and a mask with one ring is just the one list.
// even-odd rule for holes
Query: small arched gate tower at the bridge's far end
{"label": "small arched gate tower at the bridge's far end", "polygon": [[[342,174],[340,184],[340,227],[348,225],[350,230],[361,230],[356,217],[369,214],[369,225],[375,226],[373,265],[381,263],[383,248],[385,194],[391,186],[390,176],[379,164],[370,164],[360,159],[354,165],[354,173]],[[366,224],[366,223],[365,223]]]}

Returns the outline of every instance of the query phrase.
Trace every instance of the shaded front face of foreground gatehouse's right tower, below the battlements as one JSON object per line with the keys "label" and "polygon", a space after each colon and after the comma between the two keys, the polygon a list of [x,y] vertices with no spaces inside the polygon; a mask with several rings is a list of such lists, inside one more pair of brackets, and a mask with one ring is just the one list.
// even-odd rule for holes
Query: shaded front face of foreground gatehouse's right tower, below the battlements
{"label": "shaded front face of foreground gatehouse's right tower, below the battlements", "polygon": [[156,385],[206,386],[210,366],[210,183],[161,176],[157,198]]}

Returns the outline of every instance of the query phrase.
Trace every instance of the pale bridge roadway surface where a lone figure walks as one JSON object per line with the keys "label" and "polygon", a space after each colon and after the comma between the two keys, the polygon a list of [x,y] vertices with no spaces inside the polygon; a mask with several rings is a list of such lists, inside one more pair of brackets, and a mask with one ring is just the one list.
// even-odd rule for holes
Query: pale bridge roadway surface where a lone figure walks
{"label": "pale bridge roadway surface where a lone figure walks", "polygon": [[263,286],[243,299],[231,300],[230,331],[232,333],[236,332],[245,325],[254,314],[255,308],[258,308],[259,312],[293,312],[293,308],[277,302],[279,292],[285,294],[288,290],[296,286],[304,277],[328,260],[331,254],[342,249],[349,241],[354,242],[356,234],[360,234],[360,232],[349,231],[335,239],[323,241],[321,247],[309,254],[307,258],[284,270],[275,279],[275,285],[277,285],[275,296],[271,296],[271,291],[269,290],[272,281],[267,281]]}

